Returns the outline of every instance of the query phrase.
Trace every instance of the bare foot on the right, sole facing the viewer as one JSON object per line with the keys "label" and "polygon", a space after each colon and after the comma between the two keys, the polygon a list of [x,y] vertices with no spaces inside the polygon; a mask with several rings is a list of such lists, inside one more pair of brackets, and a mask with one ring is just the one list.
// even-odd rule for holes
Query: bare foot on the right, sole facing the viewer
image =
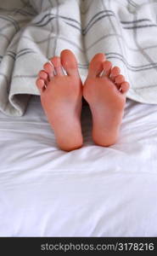
{"label": "bare foot on the right, sole facing the viewer", "polygon": [[112,68],[104,54],[93,57],[83,96],[93,114],[93,141],[98,145],[107,147],[116,142],[128,89],[119,67]]}

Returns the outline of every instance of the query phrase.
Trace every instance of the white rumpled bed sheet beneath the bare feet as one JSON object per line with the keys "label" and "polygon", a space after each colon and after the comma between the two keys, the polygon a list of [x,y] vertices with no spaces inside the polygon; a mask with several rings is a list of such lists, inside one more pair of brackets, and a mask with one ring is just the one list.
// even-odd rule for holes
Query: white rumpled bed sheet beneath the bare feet
{"label": "white rumpled bed sheet beneath the bare feet", "polygon": [[127,100],[118,143],[91,137],[60,150],[32,96],[23,117],[0,113],[0,236],[157,236],[157,105]]}

